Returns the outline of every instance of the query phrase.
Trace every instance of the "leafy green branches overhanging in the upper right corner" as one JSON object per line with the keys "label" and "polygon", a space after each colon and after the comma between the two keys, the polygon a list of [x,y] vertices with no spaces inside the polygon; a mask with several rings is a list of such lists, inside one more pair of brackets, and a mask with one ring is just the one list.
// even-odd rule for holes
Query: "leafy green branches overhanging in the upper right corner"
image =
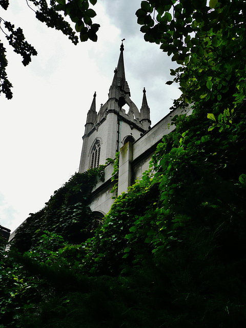
{"label": "leafy green branches overhanging in the upper right corner", "polygon": [[[160,44],[180,66],[171,75],[182,91],[179,104],[193,103],[223,115],[245,98],[245,2],[143,1],[137,10],[145,40]],[[169,81],[168,84],[171,84]],[[221,117],[222,118],[222,117]],[[220,126],[224,128],[223,125]]]}

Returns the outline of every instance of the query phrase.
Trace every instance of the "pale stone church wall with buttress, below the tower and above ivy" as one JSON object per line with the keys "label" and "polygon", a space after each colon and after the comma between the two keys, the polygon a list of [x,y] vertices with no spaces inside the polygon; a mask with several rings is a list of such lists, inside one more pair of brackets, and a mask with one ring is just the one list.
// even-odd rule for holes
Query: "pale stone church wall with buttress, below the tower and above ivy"
{"label": "pale stone church wall with buttress, below the tower and above ivy", "polygon": [[[170,126],[171,119],[175,115],[190,115],[191,113],[192,110],[189,107],[186,110],[177,109],[172,111],[135,142],[127,142],[120,148],[117,195],[127,192],[128,187],[136,179],[140,179],[142,174],[149,169],[149,162],[157,145],[161,142],[164,135],[175,129],[174,125]],[[115,195],[110,193],[114,186],[114,182],[111,182],[113,171],[114,168],[111,163],[105,169],[105,181],[99,181],[93,189],[90,203],[90,208],[93,212],[101,211],[108,213],[114,202],[112,196]]]}

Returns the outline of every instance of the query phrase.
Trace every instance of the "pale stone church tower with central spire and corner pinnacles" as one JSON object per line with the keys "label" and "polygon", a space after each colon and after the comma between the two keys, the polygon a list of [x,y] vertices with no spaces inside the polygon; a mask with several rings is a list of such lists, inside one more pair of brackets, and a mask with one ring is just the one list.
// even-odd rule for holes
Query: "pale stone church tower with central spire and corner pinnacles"
{"label": "pale stone church tower with central spire and corner pinnacles", "polygon": [[[96,93],[87,114],[83,148],[80,157],[79,172],[103,165],[107,158],[115,158],[115,153],[128,141],[134,142],[150,129],[150,109],[146,91],[139,110],[131,100],[130,89],[125,76],[124,45],[120,46],[117,68],[114,70],[108,100],[101,104],[96,112]],[[124,106],[128,106],[128,112]]]}

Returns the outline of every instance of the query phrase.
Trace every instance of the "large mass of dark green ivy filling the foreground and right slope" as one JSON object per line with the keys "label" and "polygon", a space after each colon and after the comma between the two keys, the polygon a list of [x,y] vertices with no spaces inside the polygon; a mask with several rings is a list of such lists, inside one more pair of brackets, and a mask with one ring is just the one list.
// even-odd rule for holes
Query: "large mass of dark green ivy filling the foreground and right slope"
{"label": "large mass of dark green ivy filling the foreground and right slope", "polygon": [[[73,244],[47,230],[24,255],[3,259],[2,280],[23,279],[1,283],[6,327],[244,326],[245,109],[221,132],[210,121],[175,116],[150,170],[94,237]],[[51,210],[77,206],[75,180]]]}

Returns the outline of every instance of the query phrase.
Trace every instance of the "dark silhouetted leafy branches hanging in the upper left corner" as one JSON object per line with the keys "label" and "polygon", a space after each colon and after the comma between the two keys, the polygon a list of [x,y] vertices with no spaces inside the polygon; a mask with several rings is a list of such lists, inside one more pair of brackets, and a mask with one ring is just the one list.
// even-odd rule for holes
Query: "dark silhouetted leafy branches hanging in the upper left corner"
{"label": "dark silhouetted leafy branches hanging in the upper left corner", "polygon": [[[89,4],[95,5],[97,0],[27,0],[27,5],[35,12],[36,18],[40,22],[45,23],[48,27],[55,28],[62,31],[73,44],[78,43],[78,35],[81,41],[87,41],[88,38],[92,41],[97,40],[96,32],[99,29],[99,24],[93,24],[92,19],[96,16],[93,9],[89,8]],[[1,0],[0,6],[7,10],[9,0]],[[59,12],[62,11],[63,15]],[[64,18],[69,16],[72,22],[75,23],[74,28]],[[31,61],[31,56],[37,55],[36,50],[25,39],[22,28],[15,28],[14,24],[7,22],[4,17],[0,16],[0,30],[6,36],[10,46],[13,47],[14,52],[23,57],[23,65],[26,66]],[[6,58],[6,49],[3,43],[0,43],[0,93],[4,93],[8,99],[11,99],[13,94],[11,91],[11,83],[8,80],[6,67],[8,61]]]}

